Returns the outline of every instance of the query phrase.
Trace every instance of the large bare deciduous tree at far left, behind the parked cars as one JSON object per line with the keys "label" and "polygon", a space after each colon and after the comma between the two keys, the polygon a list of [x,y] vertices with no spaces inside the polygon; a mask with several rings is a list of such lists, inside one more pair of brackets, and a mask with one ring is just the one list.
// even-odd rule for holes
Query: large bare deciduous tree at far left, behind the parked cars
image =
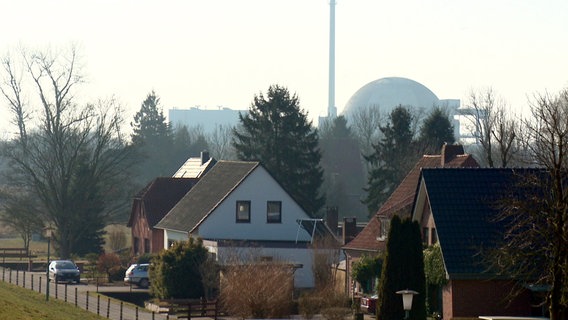
{"label": "large bare deciduous tree at far left, behind the parked cars", "polygon": [[[127,181],[132,159],[121,140],[120,106],[112,99],[83,106],[75,101],[82,83],[76,47],[21,54],[23,70],[4,63],[13,80],[2,93],[19,127],[4,154],[10,165],[6,181],[37,199],[36,219],[55,227],[62,257],[101,250],[104,226],[127,204],[126,188],[118,186]],[[38,97],[27,105],[21,99],[25,81]]]}

